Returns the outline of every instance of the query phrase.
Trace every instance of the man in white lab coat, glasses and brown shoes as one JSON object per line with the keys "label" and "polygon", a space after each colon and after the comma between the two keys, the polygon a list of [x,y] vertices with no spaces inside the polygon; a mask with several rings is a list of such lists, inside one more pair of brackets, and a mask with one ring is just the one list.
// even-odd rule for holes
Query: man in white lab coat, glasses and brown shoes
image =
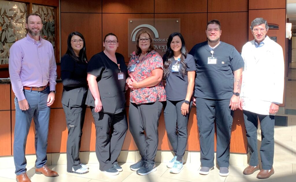
{"label": "man in white lab coat, glasses and brown shoes", "polygon": [[265,179],[274,174],[274,116],[283,103],[284,56],[283,49],[267,35],[268,24],[263,18],[251,22],[254,40],[242,48],[244,71],[240,94],[240,109],[250,152],[250,165],[244,170],[250,175],[259,170],[257,150],[258,118],[261,126],[260,156],[262,169],[257,178]]}

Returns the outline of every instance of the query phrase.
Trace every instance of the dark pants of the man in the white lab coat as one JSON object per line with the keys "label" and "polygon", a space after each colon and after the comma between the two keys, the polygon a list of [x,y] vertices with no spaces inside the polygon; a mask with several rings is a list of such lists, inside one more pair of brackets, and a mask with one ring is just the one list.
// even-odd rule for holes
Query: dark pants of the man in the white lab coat
{"label": "dark pants of the man in the white lab coat", "polygon": [[263,170],[270,170],[274,163],[274,116],[252,113],[244,110],[244,125],[250,151],[250,165],[258,165],[257,129],[261,126],[260,156]]}

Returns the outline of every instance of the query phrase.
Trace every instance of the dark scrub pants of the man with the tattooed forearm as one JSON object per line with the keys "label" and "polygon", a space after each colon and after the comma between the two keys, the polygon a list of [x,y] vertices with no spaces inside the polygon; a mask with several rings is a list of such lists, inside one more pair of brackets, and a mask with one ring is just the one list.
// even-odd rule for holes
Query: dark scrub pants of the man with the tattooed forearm
{"label": "dark scrub pants of the man with the tattooed forearm", "polygon": [[200,162],[202,167],[214,166],[214,134],[217,126],[217,162],[229,167],[229,149],[233,111],[230,99],[210,100],[196,98],[197,125],[200,135]]}

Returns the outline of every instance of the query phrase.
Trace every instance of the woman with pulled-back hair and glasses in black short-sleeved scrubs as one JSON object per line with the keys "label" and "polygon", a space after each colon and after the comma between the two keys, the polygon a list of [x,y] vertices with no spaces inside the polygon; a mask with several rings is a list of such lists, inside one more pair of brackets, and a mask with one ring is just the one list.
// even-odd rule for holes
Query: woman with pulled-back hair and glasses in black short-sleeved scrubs
{"label": "woman with pulled-back hair and glasses in black short-sleeved scrubs", "polygon": [[108,33],[103,41],[104,51],[90,59],[87,69],[86,104],[91,108],[96,126],[96,156],[100,170],[109,175],[122,171],[117,158],[128,129],[125,110],[127,67],[123,56],[116,53],[118,45],[117,36]]}

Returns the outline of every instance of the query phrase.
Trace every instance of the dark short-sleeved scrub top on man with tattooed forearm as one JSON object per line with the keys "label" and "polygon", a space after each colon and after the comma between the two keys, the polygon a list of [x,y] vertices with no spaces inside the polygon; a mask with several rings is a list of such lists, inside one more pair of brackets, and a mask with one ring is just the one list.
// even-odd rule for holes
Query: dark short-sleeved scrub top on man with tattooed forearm
{"label": "dark short-sleeved scrub top on man with tattooed forearm", "polygon": [[[213,57],[217,58],[216,64],[208,64],[212,50]],[[194,56],[197,68],[194,97],[230,99],[233,95],[233,71],[244,67],[244,60],[235,47],[220,41],[219,45],[212,49],[205,41],[194,45],[189,54]]]}

